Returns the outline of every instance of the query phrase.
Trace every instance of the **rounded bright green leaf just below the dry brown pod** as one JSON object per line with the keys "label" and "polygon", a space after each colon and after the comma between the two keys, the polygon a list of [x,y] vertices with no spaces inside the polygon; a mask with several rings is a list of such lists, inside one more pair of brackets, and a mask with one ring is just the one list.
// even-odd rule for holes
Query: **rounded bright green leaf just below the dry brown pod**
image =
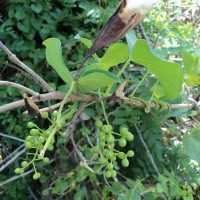
{"label": "rounded bright green leaf just below the dry brown pod", "polygon": [[102,69],[109,70],[110,67],[123,63],[128,59],[128,47],[126,44],[115,43],[110,45],[101,58]]}

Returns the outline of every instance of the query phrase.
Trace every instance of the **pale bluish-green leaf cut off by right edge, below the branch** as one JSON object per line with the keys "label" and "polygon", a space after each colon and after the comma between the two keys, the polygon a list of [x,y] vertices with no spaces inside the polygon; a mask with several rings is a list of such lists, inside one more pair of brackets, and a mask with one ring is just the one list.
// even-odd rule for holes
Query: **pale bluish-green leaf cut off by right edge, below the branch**
{"label": "pale bluish-green leaf cut off by right edge, below the branch", "polygon": [[183,136],[183,147],[191,159],[200,162],[200,125]]}

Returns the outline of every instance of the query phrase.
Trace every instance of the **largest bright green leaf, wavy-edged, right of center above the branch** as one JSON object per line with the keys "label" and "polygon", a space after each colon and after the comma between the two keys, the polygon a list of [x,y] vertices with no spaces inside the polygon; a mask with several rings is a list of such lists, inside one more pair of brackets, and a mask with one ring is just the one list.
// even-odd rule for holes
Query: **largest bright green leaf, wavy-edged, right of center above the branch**
{"label": "largest bright green leaf, wavy-edged, right of center above the branch", "polygon": [[150,73],[155,74],[167,98],[173,100],[180,96],[183,71],[177,63],[166,62],[157,58],[153,55],[145,40],[136,42],[131,60],[144,65]]}

